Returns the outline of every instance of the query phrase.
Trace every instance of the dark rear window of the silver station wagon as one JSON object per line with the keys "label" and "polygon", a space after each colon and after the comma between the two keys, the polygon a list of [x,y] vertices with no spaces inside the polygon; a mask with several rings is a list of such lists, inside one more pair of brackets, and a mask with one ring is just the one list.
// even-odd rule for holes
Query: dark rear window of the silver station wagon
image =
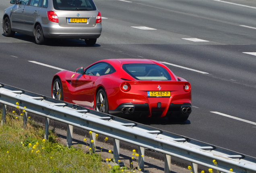
{"label": "dark rear window of the silver station wagon", "polygon": [[70,11],[92,11],[96,6],[92,0],[53,0],[54,9]]}

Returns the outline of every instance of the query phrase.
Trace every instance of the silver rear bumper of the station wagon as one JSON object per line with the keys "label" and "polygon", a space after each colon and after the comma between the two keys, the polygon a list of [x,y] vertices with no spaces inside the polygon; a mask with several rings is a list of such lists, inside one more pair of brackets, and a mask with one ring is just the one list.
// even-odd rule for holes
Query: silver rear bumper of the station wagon
{"label": "silver rear bumper of the station wagon", "polygon": [[96,24],[93,27],[64,27],[58,23],[42,25],[43,35],[45,38],[99,38],[101,35],[102,26]]}

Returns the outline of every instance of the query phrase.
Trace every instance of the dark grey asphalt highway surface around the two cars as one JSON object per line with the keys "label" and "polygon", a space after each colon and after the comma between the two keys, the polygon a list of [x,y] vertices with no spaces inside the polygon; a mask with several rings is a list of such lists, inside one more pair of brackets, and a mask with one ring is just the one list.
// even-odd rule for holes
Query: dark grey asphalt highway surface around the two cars
{"label": "dark grey asphalt highway surface around the two cars", "polygon": [[[0,3],[3,14],[9,0]],[[0,82],[50,96],[52,76],[59,70],[29,61],[71,71],[109,58],[175,64],[167,66],[192,85],[188,121],[139,121],[256,157],[256,56],[244,53],[256,52],[256,2],[95,0],[95,4],[104,18],[102,35],[93,47],[70,39],[37,45],[33,37],[16,33],[7,38],[0,30]]]}

